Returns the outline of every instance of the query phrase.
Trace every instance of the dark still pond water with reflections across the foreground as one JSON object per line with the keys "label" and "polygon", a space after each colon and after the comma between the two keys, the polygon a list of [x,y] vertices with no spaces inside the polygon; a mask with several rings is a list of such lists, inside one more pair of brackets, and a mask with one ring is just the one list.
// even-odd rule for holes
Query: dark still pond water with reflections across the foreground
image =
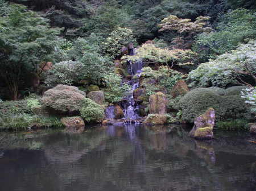
{"label": "dark still pond water with reflections across the foreground", "polygon": [[96,127],[0,134],[1,191],[256,190],[246,133],[189,138],[181,127]]}

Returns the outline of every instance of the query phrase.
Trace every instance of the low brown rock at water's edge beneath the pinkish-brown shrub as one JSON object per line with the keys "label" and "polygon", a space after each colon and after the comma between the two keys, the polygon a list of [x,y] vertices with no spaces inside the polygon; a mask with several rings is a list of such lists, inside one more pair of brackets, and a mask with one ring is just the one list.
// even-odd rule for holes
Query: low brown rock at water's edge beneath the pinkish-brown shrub
{"label": "low brown rock at water's edge beneath the pinkish-brown shrub", "polygon": [[80,133],[84,131],[84,121],[81,117],[65,117],[60,121],[66,127],[65,131],[67,132]]}

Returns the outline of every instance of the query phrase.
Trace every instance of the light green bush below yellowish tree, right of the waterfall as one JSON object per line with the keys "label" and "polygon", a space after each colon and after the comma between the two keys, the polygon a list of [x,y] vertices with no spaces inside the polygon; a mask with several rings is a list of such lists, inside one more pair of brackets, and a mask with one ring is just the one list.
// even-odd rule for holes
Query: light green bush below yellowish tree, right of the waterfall
{"label": "light green bush below yellowish tree, right of the waterfall", "polygon": [[154,83],[148,82],[147,79],[142,81],[142,86],[146,88],[147,96],[154,94],[159,89],[166,89],[167,92],[170,92],[176,82],[184,77],[182,73],[170,69],[167,66],[161,66],[159,70],[152,70],[150,67],[145,67],[142,69],[141,76],[147,78],[149,81],[155,81]]}

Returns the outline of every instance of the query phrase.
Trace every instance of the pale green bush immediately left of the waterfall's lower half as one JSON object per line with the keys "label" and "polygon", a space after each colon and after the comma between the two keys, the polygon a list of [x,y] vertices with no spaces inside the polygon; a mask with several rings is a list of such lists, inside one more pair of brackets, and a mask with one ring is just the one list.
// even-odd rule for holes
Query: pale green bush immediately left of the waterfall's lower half
{"label": "pale green bush immediately left of the waterfall's lower half", "polygon": [[122,78],[116,73],[108,73],[104,76],[105,81],[105,98],[107,101],[113,103],[121,101],[125,93],[129,92],[131,86],[122,83]]}

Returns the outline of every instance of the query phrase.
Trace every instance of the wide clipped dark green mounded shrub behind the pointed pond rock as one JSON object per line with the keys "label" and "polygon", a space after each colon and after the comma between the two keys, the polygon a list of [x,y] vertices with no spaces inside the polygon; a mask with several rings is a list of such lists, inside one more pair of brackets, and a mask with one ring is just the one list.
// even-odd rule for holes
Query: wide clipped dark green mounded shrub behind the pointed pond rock
{"label": "wide clipped dark green mounded shrub behind the pointed pond rock", "polygon": [[219,96],[209,88],[194,89],[179,101],[182,110],[182,119],[193,122],[196,117],[203,114],[209,107],[216,111],[216,120],[249,118],[250,110],[245,100],[240,96]]}

